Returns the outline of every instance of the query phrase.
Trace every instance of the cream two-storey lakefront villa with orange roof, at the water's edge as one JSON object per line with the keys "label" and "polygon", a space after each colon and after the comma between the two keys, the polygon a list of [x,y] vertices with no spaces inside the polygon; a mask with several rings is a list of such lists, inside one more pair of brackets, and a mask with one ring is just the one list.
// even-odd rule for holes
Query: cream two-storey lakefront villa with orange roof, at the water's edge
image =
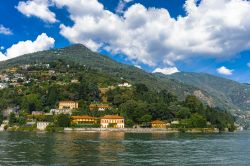
{"label": "cream two-storey lakefront villa with orange roof, at the water's edge", "polygon": [[101,128],[124,128],[124,117],[118,115],[106,115],[101,117]]}

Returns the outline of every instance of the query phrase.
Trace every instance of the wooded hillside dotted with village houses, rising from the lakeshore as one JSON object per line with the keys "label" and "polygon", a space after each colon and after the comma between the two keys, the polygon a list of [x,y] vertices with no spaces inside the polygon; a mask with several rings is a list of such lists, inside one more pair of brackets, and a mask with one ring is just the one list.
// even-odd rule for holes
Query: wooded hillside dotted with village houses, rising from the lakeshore
{"label": "wooded hillside dotted with village houses, rising from the lakeshore", "polygon": [[1,130],[235,128],[229,113],[194,96],[179,101],[170,92],[60,60],[2,70],[0,97]]}

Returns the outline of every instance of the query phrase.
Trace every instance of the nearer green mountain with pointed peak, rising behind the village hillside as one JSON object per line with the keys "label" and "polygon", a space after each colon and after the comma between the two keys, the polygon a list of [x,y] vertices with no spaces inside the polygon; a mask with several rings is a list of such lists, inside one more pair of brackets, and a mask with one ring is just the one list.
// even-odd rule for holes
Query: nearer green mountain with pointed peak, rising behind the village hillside
{"label": "nearer green mountain with pointed peak, rising behind the village hillside", "polygon": [[147,73],[131,65],[118,63],[107,56],[92,52],[80,44],[27,54],[5,62],[0,62],[0,70],[24,64],[49,63],[55,60],[84,65],[113,77],[122,77],[132,83],[144,83],[152,89],[168,89],[179,96],[183,96],[183,93],[192,94],[193,91],[197,89],[173,79],[155,77],[154,74]]}

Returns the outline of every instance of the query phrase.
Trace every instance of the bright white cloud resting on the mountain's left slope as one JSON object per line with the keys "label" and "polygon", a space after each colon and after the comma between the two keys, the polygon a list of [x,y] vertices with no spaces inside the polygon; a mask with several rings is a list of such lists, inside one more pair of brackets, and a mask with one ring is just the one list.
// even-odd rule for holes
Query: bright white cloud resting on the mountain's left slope
{"label": "bright white cloud resting on the mountain's left slope", "polygon": [[4,54],[0,52],[0,61],[5,61],[28,53],[48,50],[54,47],[54,43],[55,40],[53,38],[48,37],[45,33],[42,33],[37,36],[35,41],[20,41],[8,48]]}

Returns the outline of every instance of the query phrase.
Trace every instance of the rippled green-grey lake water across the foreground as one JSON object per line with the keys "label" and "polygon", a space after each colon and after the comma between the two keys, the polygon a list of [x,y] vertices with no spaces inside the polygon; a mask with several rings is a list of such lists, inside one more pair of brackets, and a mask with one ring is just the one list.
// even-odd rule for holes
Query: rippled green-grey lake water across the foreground
{"label": "rippled green-grey lake water across the foreground", "polygon": [[0,132],[0,165],[250,165],[250,132]]}

